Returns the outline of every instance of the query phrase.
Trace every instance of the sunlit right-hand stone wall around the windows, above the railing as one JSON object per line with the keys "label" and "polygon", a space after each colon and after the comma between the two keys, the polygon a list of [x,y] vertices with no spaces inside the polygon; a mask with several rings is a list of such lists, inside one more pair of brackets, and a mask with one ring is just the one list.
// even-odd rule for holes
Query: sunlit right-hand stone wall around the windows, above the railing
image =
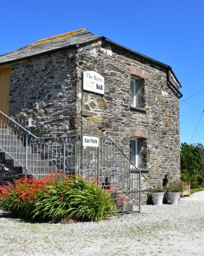
{"label": "sunlit right-hand stone wall around the windows, above the railing", "polygon": [[[82,97],[84,134],[117,136],[114,140],[129,154],[129,138],[147,138],[147,177],[144,195],[162,184],[164,175],[180,177],[179,99],[167,83],[167,71],[127,52],[98,45],[78,52],[78,93]],[[105,95],[82,92],[82,70],[94,70],[105,77]],[[131,76],[142,78],[145,109],[130,108]],[[177,88],[179,84],[175,83]],[[81,122],[81,120],[79,120]],[[80,125],[78,125],[80,127]],[[145,195],[146,196],[146,195]]]}

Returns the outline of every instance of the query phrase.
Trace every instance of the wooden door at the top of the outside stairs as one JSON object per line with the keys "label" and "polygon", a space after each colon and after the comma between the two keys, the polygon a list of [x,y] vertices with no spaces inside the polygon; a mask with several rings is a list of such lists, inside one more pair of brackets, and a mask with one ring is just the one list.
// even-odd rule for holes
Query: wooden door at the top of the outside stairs
{"label": "wooden door at the top of the outside stairs", "polygon": [[[10,67],[0,67],[0,110],[8,115],[10,99]],[[0,115],[0,125],[2,115]]]}

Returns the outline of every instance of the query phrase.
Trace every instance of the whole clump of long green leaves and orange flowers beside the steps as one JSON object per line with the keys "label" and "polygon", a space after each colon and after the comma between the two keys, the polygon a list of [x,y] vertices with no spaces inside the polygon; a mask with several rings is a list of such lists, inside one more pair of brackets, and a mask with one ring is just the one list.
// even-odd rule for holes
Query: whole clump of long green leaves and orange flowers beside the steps
{"label": "whole clump of long green leaves and orange flowers beside the steps", "polygon": [[21,179],[0,190],[0,208],[22,218],[98,221],[116,211],[105,189],[81,177],[57,174],[36,180]]}

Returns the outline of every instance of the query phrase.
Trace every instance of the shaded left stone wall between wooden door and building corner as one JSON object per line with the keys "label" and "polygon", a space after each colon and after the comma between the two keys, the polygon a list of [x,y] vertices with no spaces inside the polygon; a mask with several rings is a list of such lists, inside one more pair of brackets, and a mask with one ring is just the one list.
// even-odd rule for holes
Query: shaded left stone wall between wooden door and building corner
{"label": "shaded left stone wall between wooden door and building corner", "polygon": [[75,131],[75,52],[47,54],[11,65],[10,116],[34,133],[52,136]]}

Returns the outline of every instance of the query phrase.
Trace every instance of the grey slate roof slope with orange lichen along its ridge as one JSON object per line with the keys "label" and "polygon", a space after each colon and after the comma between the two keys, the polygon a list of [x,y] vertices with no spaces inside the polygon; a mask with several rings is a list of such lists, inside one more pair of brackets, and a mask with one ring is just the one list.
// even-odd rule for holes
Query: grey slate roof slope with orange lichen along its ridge
{"label": "grey slate roof slope with orange lichen along its ridge", "polygon": [[84,44],[100,37],[101,36],[86,31],[86,29],[78,29],[61,35],[41,39],[34,44],[0,55],[0,65],[43,54],[43,52],[49,52],[76,44]]}

